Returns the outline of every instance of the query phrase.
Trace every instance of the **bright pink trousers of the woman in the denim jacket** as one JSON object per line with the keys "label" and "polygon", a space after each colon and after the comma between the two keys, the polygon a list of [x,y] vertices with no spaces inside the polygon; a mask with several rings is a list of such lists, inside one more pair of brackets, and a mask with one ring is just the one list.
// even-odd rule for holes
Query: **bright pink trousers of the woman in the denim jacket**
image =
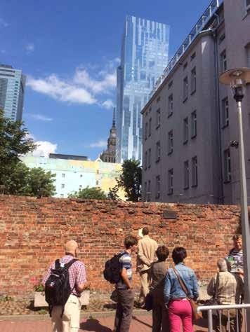
{"label": "bright pink trousers of the woman in the denim jacket", "polygon": [[169,322],[171,332],[180,332],[180,322],[183,324],[183,332],[193,332],[192,307],[189,300],[173,300],[169,304]]}

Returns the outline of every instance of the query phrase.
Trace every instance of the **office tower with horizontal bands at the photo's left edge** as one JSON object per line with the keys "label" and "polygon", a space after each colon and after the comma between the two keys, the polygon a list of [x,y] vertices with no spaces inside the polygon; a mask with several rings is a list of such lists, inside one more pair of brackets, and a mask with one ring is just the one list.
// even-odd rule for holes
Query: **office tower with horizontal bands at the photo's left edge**
{"label": "office tower with horizontal bands at the photo's left edge", "polygon": [[19,69],[0,64],[0,109],[6,118],[22,120],[25,76]]}

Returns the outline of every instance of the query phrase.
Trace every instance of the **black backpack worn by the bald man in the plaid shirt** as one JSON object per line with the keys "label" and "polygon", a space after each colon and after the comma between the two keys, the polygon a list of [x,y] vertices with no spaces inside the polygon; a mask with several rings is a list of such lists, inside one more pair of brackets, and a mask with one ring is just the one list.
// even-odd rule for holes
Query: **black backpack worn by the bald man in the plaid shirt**
{"label": "black backpack worn by the bald man in the plaid shirt", "polygon": [[61,267],[59,259],[55,261],[55,268],[51,270],[51,275],[45,283],[45,300],[48,303],[50,315],[55,305],[62,305],[62,314],[64,312],[65,303],[72,293],[69,268],[75,261],[77,259],[72,259],[63,267]]}

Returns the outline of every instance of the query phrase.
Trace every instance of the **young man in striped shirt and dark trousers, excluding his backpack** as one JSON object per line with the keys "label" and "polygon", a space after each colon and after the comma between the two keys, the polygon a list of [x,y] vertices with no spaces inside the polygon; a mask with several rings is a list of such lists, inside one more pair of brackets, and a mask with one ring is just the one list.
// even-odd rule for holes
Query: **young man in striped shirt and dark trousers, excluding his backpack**
{"label": "young man in striped shirt and dark trousers, excluding his backpack", "polygon": [[132,289],[131,254],[137,251],[138,240],[129,235],[124,240],[124,251],[119,254],[120,274],[115,285],[117,311],[114,319],[115,332],[129,332],[133,312],[134,291]]}

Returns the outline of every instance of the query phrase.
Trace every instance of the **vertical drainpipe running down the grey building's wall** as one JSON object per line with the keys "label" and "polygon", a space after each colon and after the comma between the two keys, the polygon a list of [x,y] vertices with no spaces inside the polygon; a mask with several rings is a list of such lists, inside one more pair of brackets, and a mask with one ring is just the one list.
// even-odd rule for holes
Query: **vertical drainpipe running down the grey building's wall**
{"label": "vertical drainpipe running down the grey building's wall", "polygon": [[[216,16],[217,22],[219,24],[219,16],[214,13],[213,15]],[[217,115],[218,115],[218,138],[219,138],[219,153],[220,153],[220,173],[221,173],[221,204],[224,204],[224,188],[223,188],[223,165],[222,165],[222,147],[221,147],[221,100],[220,100],[220,89],[219,89],[219,80],[218,80],[218,45],[216,40],[216,28],[213,29],[213,43],[214,43],[214,61],[215,61],[215,69],[216,69],[216,77],[215,77],[215,84],[216,84],[216,100],[217,100]]]}

